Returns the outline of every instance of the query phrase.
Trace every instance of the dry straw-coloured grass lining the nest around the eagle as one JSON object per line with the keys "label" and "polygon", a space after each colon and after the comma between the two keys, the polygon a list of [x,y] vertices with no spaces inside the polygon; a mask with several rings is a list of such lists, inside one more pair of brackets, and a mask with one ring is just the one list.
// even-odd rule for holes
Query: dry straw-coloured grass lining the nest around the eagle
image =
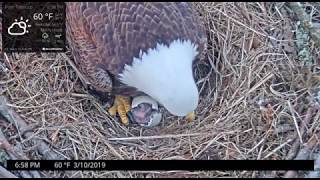
{"label": "dry straw-coloured grass lining the nest around the eagle", "polygon": [[[284,3],[196,3],[208,30],[195,70],[201,100],[188,124],[166,114],[159,127],[124,127],[81,86],[63,54],[14,54],[0,79],[10,106],[67,159],[286,159],[314,90],[316,66],[298,60]],[[310,6],[312,7],[312,6]],[[315,17],[319,10],[314,9]],[[318,74],[317,74],[318,73]],[[319,119],[319,112],[314,119]],[[14,125],[4,131],[10,133]],[[305,125],[302,143],[319,133]],[[18,136],[10,142],[27,143]],[[36,152],[27,152],[32,159]],[[283,172],[274,172],[273,176]],[[45,172],[48,177],[264,177],[270,172]]]}

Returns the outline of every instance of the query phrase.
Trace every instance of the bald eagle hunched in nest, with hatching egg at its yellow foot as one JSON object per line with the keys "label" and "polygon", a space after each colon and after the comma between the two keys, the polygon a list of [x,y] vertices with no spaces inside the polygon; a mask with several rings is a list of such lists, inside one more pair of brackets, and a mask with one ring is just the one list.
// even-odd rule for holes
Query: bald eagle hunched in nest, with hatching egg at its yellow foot
{"label": "bald eagle hunched in nest, with hatching egg at its yellow foot", "polygon": [[192,115],[199,101],[193,67],[207,44],[192,4],[70,2],[66,13],[75,65],[97,92],[115,95],[111,115],[141,126],[159,124],[158,105]]}

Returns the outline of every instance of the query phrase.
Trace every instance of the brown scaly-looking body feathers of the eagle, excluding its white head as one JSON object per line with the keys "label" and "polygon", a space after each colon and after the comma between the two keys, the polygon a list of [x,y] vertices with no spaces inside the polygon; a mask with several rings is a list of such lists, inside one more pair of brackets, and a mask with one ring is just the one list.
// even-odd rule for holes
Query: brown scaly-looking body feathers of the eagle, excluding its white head
{"label": "brown scaly-looking body feathers of the eagle, excluding its white head", "polygon": [[100,92],[134,96],[117,76],[140,50],[189,39],[205,49],[206,35],[192,5],[182,2],[67,3],[67,40],[75,64]]}

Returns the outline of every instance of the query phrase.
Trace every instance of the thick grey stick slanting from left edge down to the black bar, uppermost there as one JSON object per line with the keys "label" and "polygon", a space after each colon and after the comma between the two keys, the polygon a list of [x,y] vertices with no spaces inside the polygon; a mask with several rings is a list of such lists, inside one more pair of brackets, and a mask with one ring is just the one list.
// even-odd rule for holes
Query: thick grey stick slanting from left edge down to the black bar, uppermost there
{"label": "thick grey stick slanting from left edge down to the black bar, uppermost there", "polygon": [[[0,96],[0,114],[5,117],[9,122],[16,125],[18,132],[22,129],[27,129],[27,123],[12,109],[7,106],[7,99],[4,96]],[[25,138],[34,137],[34,133],[31,131],[25,131],[22,134]],[[44,159],[55,160],[61,159],[62,157],[50,150],[50,147],[40,139],[32,139],[34,144],[37,144],[36,147],[38,152],[44,156]]]}

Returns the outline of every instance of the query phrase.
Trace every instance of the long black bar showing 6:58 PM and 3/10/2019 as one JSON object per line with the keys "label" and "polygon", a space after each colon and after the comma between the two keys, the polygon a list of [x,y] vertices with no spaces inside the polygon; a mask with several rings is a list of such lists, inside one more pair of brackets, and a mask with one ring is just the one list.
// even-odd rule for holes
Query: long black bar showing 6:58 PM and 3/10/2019
{"label": "long black bar showing 6:58 PM and 3/10/2019", "polygon": [[314,170],[314,160],[8,160],[8,170]]}

